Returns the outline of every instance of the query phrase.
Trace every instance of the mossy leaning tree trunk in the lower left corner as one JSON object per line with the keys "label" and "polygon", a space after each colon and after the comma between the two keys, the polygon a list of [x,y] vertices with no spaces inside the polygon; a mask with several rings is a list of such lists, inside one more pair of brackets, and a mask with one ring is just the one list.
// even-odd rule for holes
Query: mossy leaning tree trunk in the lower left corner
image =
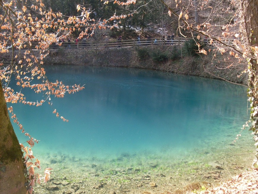
{"label": "mossy leaning tree trunk in the lower left corner", "polygon": [[0,81],[0,194],[24,194],[23,154],[14,133]]}

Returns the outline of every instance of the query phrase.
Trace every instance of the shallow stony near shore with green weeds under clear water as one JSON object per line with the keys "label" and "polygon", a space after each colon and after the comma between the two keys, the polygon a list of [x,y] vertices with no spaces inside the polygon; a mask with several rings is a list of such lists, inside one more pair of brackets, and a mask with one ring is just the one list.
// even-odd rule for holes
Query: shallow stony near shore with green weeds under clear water
{"label": "shallow stony near shore with green weeds under clear water", "polygon": [[195,149],[195,153],[178,159],[162,158],[149,152],[103,159],[77,156],[76,153],[46,154],[48,159],[41,163],[53,168],[50,181],[37,184],[35,192],[160,194],[183,192],[190,186],[195,189],[217,186],[251,168],[254,152],[253,142],[246,143],[249,136],[244,133],[233,145],[225,142],[223,150],[214,148],[211,153]]}

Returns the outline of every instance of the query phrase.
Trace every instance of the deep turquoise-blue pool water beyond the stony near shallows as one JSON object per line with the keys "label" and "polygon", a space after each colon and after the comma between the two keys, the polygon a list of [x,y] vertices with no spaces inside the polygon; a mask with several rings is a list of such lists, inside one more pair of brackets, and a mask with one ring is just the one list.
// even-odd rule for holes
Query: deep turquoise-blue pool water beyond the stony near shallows
{"label": "deep turquoise-blue pool water beyond the stony near shallows", "polygon": [[[155,168],[173,163],[171,158],[200,157],[195,153],[216,160],[212,157],[230,147],[249,118],[246,88],[221,80],[128,68],[45,68],[50,80],[85,84],[81,92],[51,98],[68,123],[55,118],[47,104],[12,105],[25,130],[40,140],[34,152],[56,154],[51,164],[83,158],[89,165],[123,161]],[[42,96],[24,92],[27,100]],[[247,131],[243,135],[252,142]],[[139,155],[145,160],[133,160]]]}

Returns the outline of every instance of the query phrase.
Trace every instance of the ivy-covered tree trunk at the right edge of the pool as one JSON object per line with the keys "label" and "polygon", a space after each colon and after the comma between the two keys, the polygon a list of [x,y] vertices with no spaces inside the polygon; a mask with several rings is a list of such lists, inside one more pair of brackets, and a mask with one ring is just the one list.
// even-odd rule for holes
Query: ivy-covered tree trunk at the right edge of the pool
{"label": "ivy-covered tree trunk at the right edge of the pool", "polygon": [[[258,46],[258,1],[240,0],[241,6],[241,28],[242,39],[245,50],[250,56],[249,62],[249,100],[251,102],[251,130],[254,132],[254,141],[258,148],[258,57],[256,56],[255,46]],[[258,149],[256,153],[258,159]],[[254,163],[258,167],[257,160]]]}

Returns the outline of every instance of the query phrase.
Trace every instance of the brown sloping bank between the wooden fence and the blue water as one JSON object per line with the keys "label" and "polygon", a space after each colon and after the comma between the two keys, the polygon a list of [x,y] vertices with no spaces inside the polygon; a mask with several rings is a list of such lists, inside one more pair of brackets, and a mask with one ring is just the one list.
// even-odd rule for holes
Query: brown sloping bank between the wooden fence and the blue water
{"label": "brown sloping bank between the wooden fence and the blue water", "polygon": [[[168,56],[173,54],[173,47],[178,45],[149,45],[144,48],[148,53],[158,51],[167,53]],[[246,64],[238,64],[238,60],[233,56],[216,55],[216,50],[212,50],[208,55],[196,57],[179,56],[178,59],[167,59],[166,61],[157,62],[151,57],[146,56],[142,59],[139,56],[138,47],[130,48],[100,48],[93,49],[54,49],[44,59],[45,64],[62,64],[62,65],[90,65],[106,67],[130,67],[143,68],[151,70],[160,70],[186,75],[196,75],[207,78],[221,78],[234,83],[247,83],[248,75],[244,72],[247,69]],[[214,56],[215,55],[215,56]]]}

